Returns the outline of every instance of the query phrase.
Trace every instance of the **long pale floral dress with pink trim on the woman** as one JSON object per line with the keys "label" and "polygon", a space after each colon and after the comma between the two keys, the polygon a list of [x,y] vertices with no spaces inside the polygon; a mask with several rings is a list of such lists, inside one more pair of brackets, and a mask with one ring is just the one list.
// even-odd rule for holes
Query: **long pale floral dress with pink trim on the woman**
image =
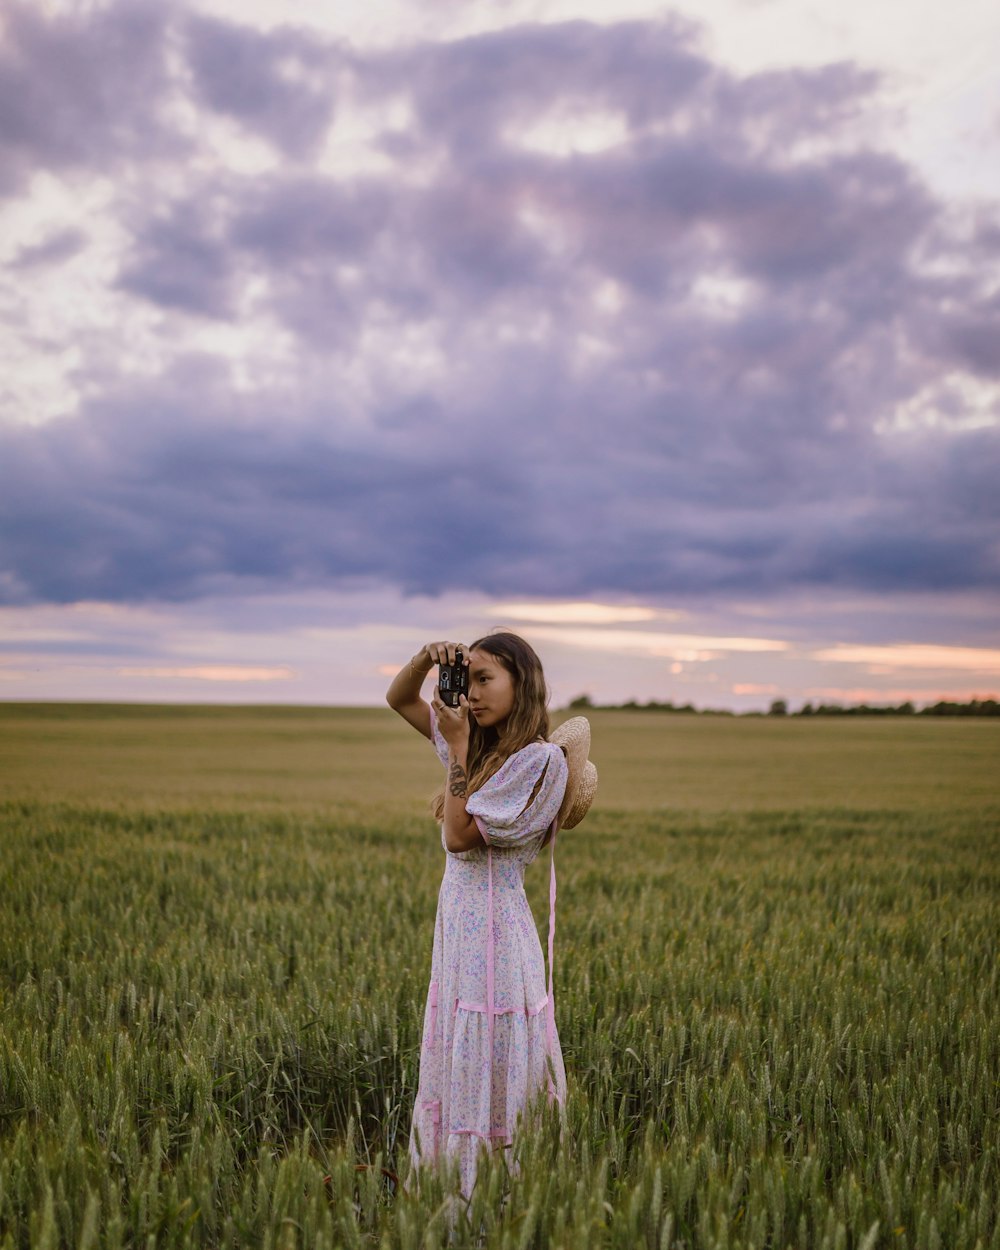
{"label": "long pale floral dress with pink trim on the woman", "polygon": [[[434,746],[448,766],[448,744],[432,711],[430,719]],[[548,986],[524,892],[525,866],[556,820],[566,779],[562,750],[555,742],[531,742],[465,804],[486,845],[458,854],[445,848],[410,1160],[418,1166],[456,1156],[466,1198],[481,1144],[510,1145],[518,1114],[542,1086],[550,1101],[562,1104],[566,1096],[552,996],[558,826],[551,839]]]}

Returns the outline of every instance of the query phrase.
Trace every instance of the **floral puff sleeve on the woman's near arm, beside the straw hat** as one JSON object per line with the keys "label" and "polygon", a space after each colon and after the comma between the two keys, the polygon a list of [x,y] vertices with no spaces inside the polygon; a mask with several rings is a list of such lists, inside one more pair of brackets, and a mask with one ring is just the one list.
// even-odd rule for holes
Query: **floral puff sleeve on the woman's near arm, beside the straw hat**
{"label": "floral puff sleeve on the woman's near arm, beside the straw hat", "polygon": [[555,820],[568,778],[566,758],[555,742],[530,742],[469,795],[465,810],[490,846],[524,846]]}

